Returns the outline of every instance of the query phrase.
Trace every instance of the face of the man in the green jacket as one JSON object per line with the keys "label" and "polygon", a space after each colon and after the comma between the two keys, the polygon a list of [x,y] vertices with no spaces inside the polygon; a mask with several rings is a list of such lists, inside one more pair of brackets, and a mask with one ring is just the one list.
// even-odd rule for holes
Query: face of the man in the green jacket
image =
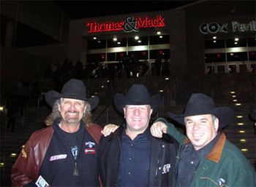
{"label": "face of the man in the green jacket", "polygon": [[185,124],[187,137],[191,141],[195,150],[203,148],[217,135],[219,120],[213,122],[211,114],[186,116]]}

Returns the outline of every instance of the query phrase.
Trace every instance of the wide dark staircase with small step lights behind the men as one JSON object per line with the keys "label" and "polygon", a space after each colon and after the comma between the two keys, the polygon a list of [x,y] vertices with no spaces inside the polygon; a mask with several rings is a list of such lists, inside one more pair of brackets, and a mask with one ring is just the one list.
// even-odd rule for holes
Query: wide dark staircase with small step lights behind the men
{"label": "wide dark staircase with small step lights behind the men", "polygon": [[[213,80],[214,83],[212,82]],[[223,82],[223,80],[225,81]],[[243,116],[243,118],[234,119],[225,128],[224,132],[228,140],[236,144],[238,148],[244,148],[244,155],[252,165],[255,164],[256,135],[253,124],[248,118],[249,111],[255,108],[255,101],[253,100],[252,90],[249,87],[246,76],[222,75],[215,78],[211,76],[198,76],[182,81],[173,77],[166,80],[165,76],[147,79],[119,79],[113,87],[109,87],[107,79],[91,79],[86,84],[86,87],[88,85],[89,95],[94,95],[97,92],[101,100],[100,105],[92,113],[96,124],[99,124],[101,127],[108,123],[122,124],[123,116],[118,114],[113,106],[113,95],[116,92],[127,92],[127,89],[133,83],[146,84],[151,93],[159,92],[159,90],[163,91],[159,92],[162,94],[162,108],[153,116],[153,119],[159,116],[167,116],[167,111],[182,114],[192,92],[203,92],[213,96],[217,106],[230,106],[236,112],[236,116]],[[230,94],[231,91],[236,92],[236,102],[233,102],[233,94]],[[241,103],[241,106],[236,106],[236,103]],[[7,134],[5,133],[4,117],[1,114],[0,161],[4,163],[4,166],[0,165],[0,186],[10,186],[11,167],[16,158],[11,156],[11,154],[18,154],[21,146],[26,143],[31,133],[45,127],[43,122],[48,114],[50,114],[50,108],[48,107],[29,107],[27,108],[25,118],[20,116],[17,119],[15,132],[8,132]],[[239,122],[243,122],[244,125],[238,125]],[[177,127],[181,132],[184,132],[184,127]],[[244,133],[239,132],[241,130],[244,130]]]}

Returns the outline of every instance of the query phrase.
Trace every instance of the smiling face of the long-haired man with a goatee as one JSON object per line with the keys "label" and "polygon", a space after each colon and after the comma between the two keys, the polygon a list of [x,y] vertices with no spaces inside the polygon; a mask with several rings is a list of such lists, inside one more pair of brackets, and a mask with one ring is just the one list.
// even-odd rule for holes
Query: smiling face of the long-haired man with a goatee
{"label": "smiling face of the long-haired man with a goatee", "polygon": [[83,100],[63,98],[59,104],[62,121],[66,124],[78,124],[86,112]]}

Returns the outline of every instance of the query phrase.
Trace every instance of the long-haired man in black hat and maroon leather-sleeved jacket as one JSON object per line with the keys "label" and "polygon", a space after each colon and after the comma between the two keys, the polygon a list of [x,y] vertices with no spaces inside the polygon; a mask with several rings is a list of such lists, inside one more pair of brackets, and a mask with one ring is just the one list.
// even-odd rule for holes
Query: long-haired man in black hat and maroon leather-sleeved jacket
{"label": "long-haired man in black hat and maroon leather-sleeved jacket", "polygon": [[86,87],[70,79],[61,93],[49,91],[50,127],[31,135],[12,167],[12,186],[99,186],[97,169],[101,128],[84,117],[99,104]]}

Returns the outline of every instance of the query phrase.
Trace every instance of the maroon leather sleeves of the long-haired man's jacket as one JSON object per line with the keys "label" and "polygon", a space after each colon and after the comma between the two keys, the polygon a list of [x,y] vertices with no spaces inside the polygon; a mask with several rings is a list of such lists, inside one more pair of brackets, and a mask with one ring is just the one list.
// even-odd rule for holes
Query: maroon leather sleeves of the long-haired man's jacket
{"label": "maroon leather sleeves of the long-haired man's jacket", "polygon": [[[102,128],[96,124],[91,124],[86,127],[86,130],[99,143]],[[37,130],[31,135],[12,167],[12,186],[25,186],[31,181],[37,180],[39,168],[45,157],[53,132],[53,127],[46,127],[42,130]]]}

